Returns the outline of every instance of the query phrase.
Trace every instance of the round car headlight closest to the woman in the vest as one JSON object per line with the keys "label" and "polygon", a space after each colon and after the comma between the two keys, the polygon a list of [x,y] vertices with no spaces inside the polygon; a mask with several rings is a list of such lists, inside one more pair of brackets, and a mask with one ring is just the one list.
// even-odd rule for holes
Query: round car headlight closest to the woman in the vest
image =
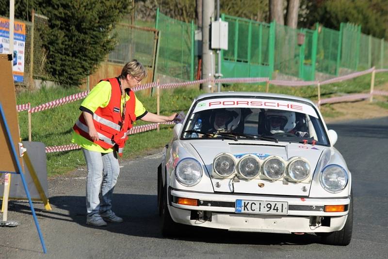
{"label": "round car headlight closest to the woman in the vest", "polygon": [[197,184],[201,180],[202,174],[202,165],[194,158],[182,159],[175,168],[175,176],[178,182],[185,186]]}

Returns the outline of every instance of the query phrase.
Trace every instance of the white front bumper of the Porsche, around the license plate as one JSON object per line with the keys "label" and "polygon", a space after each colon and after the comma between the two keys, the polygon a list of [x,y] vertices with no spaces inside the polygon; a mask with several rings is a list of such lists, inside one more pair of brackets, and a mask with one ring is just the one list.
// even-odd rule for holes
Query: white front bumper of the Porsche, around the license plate
{"label": "white front bumper of the Porsche, around the license plate", "polygon": [[[181,224],[227,229],[230,231],[294,233],[333,232],[346,222],[350,198],[299,198],[245,194],[209,194],[169,190],[169,211]],[[177,204],[177,197],[198,199],[199,206]],[[287,215],[242,214],[235,212],[235,201],[264,200],[288,202]],[[345,205],[343,212],[324,212],[324,205]],[[194,218],[193,215],[205,215]]]}

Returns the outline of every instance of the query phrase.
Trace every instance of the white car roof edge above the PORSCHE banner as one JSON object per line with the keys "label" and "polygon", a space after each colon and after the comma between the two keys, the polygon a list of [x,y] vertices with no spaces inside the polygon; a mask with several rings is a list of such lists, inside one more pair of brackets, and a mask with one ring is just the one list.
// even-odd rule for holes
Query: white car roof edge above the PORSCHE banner
{"label": "white car roof edge above the PORSCHE banner", "polygon": [[262,93],[262,92],[217,92],[217,93],[209,93],[209,94],[202,94],[198,96],[195,100],[207,98],[207,97],[222,97],[222,96],[230,96],[230,97],[235,97],[235,96],[257,96],[257,97],[270,97],[270,98],[282,98],[282,99],[291,99],[291,100],[299,100],[299,101],[304,101],[308,102],[312,105],[315,106],[315,103],[312,102],[309,99],[302,98],[302,97],[296,97],[296,96],[290,96],[290,95],[282,95],[282,94],[271,94],[271,93]]}

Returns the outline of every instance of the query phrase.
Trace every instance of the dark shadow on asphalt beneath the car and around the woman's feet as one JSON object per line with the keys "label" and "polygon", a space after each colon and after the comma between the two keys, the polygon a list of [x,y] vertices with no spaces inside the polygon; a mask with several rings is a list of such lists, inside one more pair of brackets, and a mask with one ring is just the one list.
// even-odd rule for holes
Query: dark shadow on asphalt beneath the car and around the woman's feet
{"label": "dark shadow on asphalt beneath the car and around the woman's feet", "polygon": [[[82,227],[92,227],[85,224],[85,197],[83,196],[54,196],[49,199],[52,211],[35,209],[38,217],[49,220],[76,222]],[[107,232],[119,233],[139,237],[164,237],[160,231],[160,218],[157,210],[156,195],[142,194],[113,194],[113,210],[124,219],[123,223],[108,223],[108,227],[92,227]],[[29,206],[15,202],[12,210],[30,213]],[[58,212],[60,211],[60,212]],[[54,224],[54,223],[53,223]],[[310,244],[319,243],[320,238],[315,235],[289,235],[270,233],[229,232],[226,230],[181,226],[181,235],[174,240],[231,243],[231,244]]]}

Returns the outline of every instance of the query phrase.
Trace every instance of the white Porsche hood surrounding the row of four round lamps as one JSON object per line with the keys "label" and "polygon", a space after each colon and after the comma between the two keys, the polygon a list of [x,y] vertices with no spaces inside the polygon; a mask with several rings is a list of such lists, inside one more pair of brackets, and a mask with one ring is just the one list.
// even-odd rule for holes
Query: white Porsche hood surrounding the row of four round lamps
{"label": "white Porsche hood surrounding the row of four round lamps", "polygon": [[263,161],[270,155],[278,155],[285,161],[292,157],[302,157],[310,163],[311,177],[300,183],[279,179],[271,181],[267,179],[232,179],[211,177],[215,192],[226,193],[247,193],[247,194],[274,194],[274,195],[296,195],[308,196],[311,186],[312,174],[317,166],[319,158],[325,146],[312,146],[288,142],[267,142],[267,141],[228,141],[228,140],[197,140],[191,141],[191,146],[197,151],[204,162],[208,172],[212,175],[212,163],[214,157],[221,152],[233,154],[240,158],[244,154],[255,154]]}

